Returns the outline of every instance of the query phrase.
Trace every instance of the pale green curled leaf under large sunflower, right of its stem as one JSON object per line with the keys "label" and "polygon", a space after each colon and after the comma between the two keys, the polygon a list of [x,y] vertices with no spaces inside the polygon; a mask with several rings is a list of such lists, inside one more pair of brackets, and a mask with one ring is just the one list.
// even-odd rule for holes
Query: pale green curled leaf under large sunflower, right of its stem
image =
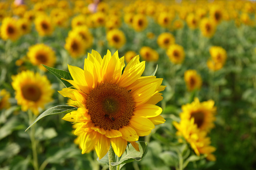
{"label": "pale green curled leaf under large sunflower, right of its stem", "polygon": [[[146,142],[136,142],[139,146],[139,152],[135,150],[135,148],[131,145],[128,144],[125,152],[123,153],[123,155],[121,156],[120,160],[118,162],[111,162],[112,166],[117,166],[120,164],[125,164],[128,162],[132,162],[134,160],[136,161],[140,161],[147,152],[147,143]],[[121,167],[120,167],[121,168]]]}

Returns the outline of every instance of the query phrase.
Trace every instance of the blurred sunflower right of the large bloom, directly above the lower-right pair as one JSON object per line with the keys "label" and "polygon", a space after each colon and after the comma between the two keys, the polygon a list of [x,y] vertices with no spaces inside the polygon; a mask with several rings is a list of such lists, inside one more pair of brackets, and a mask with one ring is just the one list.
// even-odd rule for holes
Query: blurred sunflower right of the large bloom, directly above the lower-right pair
{"label": "blurred sunflower right of the large bloom, directly above the lower-right pair", "polygon": [[184,80],[189,91],[200,89],[202,85],[202,79],[196,70],[187,70],[184,73]]}

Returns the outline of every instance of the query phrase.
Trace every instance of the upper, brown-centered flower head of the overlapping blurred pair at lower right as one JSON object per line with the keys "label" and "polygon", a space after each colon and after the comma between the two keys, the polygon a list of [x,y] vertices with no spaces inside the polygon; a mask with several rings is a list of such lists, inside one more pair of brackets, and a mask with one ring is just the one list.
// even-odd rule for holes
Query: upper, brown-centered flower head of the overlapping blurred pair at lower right
{"label": "upper, brown-centered flower head of the overlapping blurred pair at lower right", "polygon": [[214,101],[199,102],[198,98],[194,102],[182,106],[181,119],[194,119],[194,123],[201,130],[210,131],[214,127],[216,107]]}

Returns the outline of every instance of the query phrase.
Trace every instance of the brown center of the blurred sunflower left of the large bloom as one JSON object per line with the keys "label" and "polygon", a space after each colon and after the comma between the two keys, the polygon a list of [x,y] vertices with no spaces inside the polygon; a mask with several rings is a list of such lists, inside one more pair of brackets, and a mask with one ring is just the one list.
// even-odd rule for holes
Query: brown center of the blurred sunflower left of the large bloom
{"label": "brown center of the blurred sunflower left of the large bloom", "polygon": [[24,85],[21,87],[23,97],[29,101],[37,102],[41,98],[41,90],[36,85]]}

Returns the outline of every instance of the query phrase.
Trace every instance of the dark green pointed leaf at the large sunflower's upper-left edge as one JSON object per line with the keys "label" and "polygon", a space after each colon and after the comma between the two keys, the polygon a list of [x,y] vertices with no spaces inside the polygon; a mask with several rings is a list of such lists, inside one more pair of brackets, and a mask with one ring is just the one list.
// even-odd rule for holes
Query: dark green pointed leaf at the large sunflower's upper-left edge
{"label": "dark green pointed leaf at the large sunflower's upper-left edge", "polygon": [[[65,81],[66,80],[73,80],[71,74],[67,71],[61,70],[61,69],[57,69],[57,68],[51,68],[48,67],[44,64],[42,64],[49,72],[51,72],[54,76],[56,76],[63,84],[65,87],[72,87],[73,85],[71,85],[69,82]],[[64,78],[64,79],[62,79]]]}

